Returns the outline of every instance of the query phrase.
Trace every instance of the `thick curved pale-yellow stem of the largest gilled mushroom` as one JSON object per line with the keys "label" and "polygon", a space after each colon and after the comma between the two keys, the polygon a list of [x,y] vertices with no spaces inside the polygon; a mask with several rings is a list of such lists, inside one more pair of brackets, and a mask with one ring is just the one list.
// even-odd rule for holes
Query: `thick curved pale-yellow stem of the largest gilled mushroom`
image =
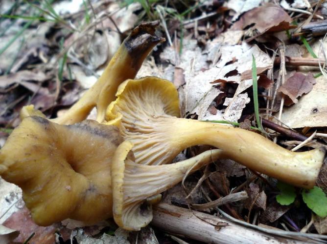
{"label": "thick curved pale-yellow stem of the largest gilled mushroom", "polygon": [[171,149],[211,145],[252,170],[303,188],[315,185],[324,160],[323,149],[292,152],[257,133],[240,128],[177,118],[171,118],[167,124]]}

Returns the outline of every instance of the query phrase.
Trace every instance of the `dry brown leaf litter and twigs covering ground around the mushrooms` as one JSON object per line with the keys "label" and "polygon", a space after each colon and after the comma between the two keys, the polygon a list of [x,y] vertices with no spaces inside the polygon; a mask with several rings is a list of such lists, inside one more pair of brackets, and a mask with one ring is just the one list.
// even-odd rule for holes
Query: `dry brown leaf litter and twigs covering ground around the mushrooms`
{"label": "dry brown leaf litter and twigs covering ground around the mushrooms", "polygon": [[[5,57],[0,61],[1,146],[20,123],[19,111],[23,105],[34,104],[48,118],[64,114],[97,80],[120,42],[140,20],[161,20],[157,32],[167,41],[159,44],[144,61],[138,77],[151,75],[172,81],[179,91],[182,117],[231,123],[257,133],[262,124],[265,129],[262,135],[287,149],[307,151],[325,147],[326,32],[317,36],[305,29],[309,23],[325,19],[325,4],[298,0],[126,1],[121,4],[3,1],[0,5],[0,53]],[[252,55],[257,74],[253,74]],[[255,122],[254,76],[260,122]],[[209,148],[192,147],[176,161],[206,149]],[[325,174],[323,165],[317,185],[326,191]],[[220,160],[187,177],[183,186],[165,192],[163,201],[209,214],[218,212],[229,221],[237,219],[254,224],[257,227],[251,228],[258,236],[268,233],[289,241],[324,239],[304,233],[327,232],[325,193],[319,188],[310,192],[281,185],[231,160]],[[12,229],[1,229],[4,231],[1,238],[24,242],[31,237],[30,243],[40,240],[53,243],[55,238],[58,243],[69,239],[90,243],[90,238],[99,238],[102,242],[110,238],[105,235],[112,235],[117,228],[112,222],[84,227],[86,237],[77,230],[83,223],[68,221],[40,227],[30,219],[18,187],[1,180],[0,190],[1,223]],[[312,194],[317,201],[308,199]],[[287,200],[289,204],[285,204]],[[22,220],[31,223],[29,228],[19,224],[24,223]],[[215,231],[222,234],[224,228],[235,223],[242,226],[232,221],[216,224]],[[58,229],[60,234],[55,236]],[[288,232],[280,233],[278,229]],[[18,237],[15,230],[20,231]],[[151,237],[146,240],[151,239],[151,243],[156,239],[153,233],[160,243],[176,240],[164,235],[163,226],[149,233]],[[126,238],[128,235],[131,234],[116,236],[125,236],[128,243],[133,240]],[[143,240],[138,239],[142,235],[137,234],[134,240]],[[192,235],[184,232],[183,235],[184,241],[194,242]]]}

